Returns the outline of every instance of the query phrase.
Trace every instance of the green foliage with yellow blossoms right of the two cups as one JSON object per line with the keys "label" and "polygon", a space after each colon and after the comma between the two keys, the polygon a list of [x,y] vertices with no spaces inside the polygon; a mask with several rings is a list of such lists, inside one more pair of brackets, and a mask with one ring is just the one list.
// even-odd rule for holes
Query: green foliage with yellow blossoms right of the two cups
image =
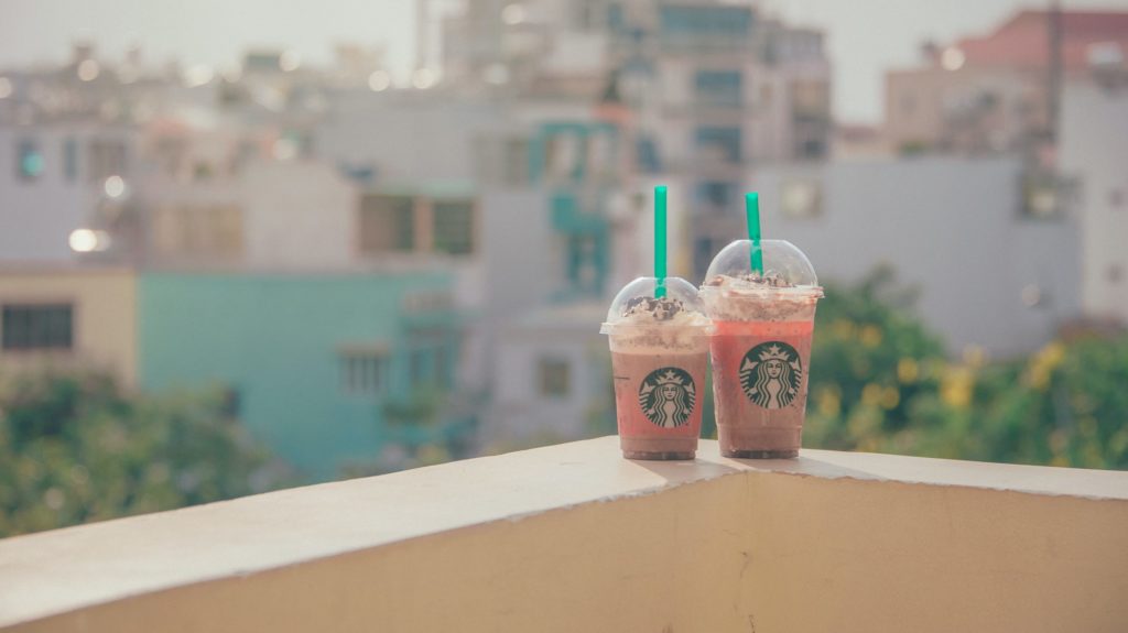
{"label": "green foliage with yellow blossoms right of the two cups", "polygon": [[1029,359],[948,359],[879,269],[828,285],[811,351],[804,445],[1128,469],[1128,336],[1056,340]]}

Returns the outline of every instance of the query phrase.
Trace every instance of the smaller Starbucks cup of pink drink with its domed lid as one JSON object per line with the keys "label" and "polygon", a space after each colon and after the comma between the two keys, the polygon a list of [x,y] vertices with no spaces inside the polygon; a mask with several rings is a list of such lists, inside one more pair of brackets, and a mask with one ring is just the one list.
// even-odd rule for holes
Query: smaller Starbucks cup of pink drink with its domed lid
{"label": "smaller Starbucks cup of pink drink with its domed lid", "polygon": [[666,278],[631,282],[611,302],[600,333],[608,335],[619,445],[628,460],[693,460],[711,327],[697,288]]}

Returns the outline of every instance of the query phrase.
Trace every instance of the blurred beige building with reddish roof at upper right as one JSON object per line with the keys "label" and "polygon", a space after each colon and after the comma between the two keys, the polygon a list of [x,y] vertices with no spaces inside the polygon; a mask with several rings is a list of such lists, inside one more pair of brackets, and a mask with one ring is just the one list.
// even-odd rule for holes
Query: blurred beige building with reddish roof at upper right
{"label": "blurred beige building with reddish roof at upper right", "polygon": [[993,33],[926,44],[885,77],[893,150],[1026,151],[1051,140],[1063,81],[1128,64],[1128,12],[1023,10]]}

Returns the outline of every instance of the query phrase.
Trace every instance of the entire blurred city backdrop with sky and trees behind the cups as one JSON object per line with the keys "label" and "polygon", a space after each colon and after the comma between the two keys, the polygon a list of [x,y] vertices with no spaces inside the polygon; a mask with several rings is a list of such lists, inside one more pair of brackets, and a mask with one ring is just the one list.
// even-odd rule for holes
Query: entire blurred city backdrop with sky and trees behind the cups
{"label": "entire blurred city backdrop with sky and trees behind the cups", "polygon": [[284,5],[5,3],[0,536],[614,434],[658,184],[805,446],[1128,467],[1128,1]]}

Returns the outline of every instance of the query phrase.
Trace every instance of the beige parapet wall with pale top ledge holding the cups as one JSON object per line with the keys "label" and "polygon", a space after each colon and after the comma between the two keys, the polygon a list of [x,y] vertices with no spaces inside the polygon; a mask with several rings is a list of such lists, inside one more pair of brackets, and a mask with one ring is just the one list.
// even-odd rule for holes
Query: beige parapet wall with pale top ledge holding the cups
{"label": "beige parapet wall with pale top ledge holding the cups", "polygon": [[0,628],[1128,631],[1128,473],[564,444],[0,541]]}

